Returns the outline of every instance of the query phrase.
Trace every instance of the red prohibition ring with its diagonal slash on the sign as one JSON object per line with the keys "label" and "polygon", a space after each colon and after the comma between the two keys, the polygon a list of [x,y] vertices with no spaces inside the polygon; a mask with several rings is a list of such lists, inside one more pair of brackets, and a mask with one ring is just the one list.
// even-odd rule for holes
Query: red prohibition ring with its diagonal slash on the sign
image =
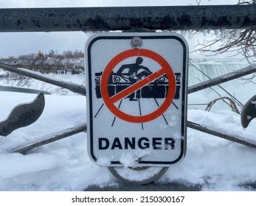
{"label": "red prohibition ring with its diagonal slash on the sign", "polygon": [[[153,74],[150,74],[148,77],[145,77],[145,79],[142,79],[139,82],[134,83],[133,85],[129,86],[128,88],[125,88],[125,90],[120,91],[114,96],[109,96],[108,79],[111,75],[111,72],[114,70],[118,63],[122,62],[123,60],[129,57],[148,57],[151,60],[156,61],[156,63],[159,63],[159,65],[161,65],[161,68]],[[148,85],[150,82],[153,82],[155,79],[158,79],[159,77],[162,77],[165,74],[168,79],[167,96],[165,98],[165,101],[152,113],[149,113],[145,116],[131,116],[127,113],[122,112],[114,105],[115,102],[124,99],[126,96],[130,95],[131,93],[134,93],[136,90],[139,90],[140,88],[143,88],[145,85]],[[165,58],[163,58],[160,54],[157,54],[155,51],[151,51],[148,49],[129,49],[126,51],[122,51],[120,54],[117,54],[117,56],[115,56],[105,67],[105,70],[103,71],[103,75],[101,78],[100,90],[105,105],[108,107],[108,110],[110,110],[111,113],[114,114],[114,116],[117,116],[118,118],[121,118],[124,121],[132,123],[144,123],[147,121],[152,121],[155,118],[158,118],[163,113],[165,113],[168,107],[170,107],[170,104],[173,102],[173,98],[176,92],[176,78],[175,75],[173,74],[173,69],[170,67],[169,63],[167,63]]]}

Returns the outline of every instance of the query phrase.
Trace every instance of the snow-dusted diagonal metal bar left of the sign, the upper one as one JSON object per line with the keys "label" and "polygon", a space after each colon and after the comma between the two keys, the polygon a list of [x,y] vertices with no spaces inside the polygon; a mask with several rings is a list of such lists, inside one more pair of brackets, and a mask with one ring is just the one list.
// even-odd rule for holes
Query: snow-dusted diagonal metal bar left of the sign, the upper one
{"label": "snow-dusted diagonal metal bar left of the sign, the upper one", "polygon": [[7,70],[7,71],[14,72],[16,74],[21,74],[25,77],[38,79],[39,81],[46,82],[46,83],[49,83],[49,84],[52,84],[52,85],[56,85],[56,86],[59,86],[61,88],[65,88],[65,89],[71,90],[72,92],[79,93],[83,96],[86,96],[86,87],[84,87],[83,85],[77,85],[77,84],[74,84],[74,83],[71,83],[71,82],[64,82],[64,81],[60,81],[58,79],[52,79],[52,78],[49,78],[49,77],[45,77],[44,74],[40,74],[39,72],[30,71],[30,70],[25,69],[25,68],[22,68],[22,69],[21,68],[15,68],[12,65],[7,65],[7,64],[4,64],[4,63],[0,63],[0,68],[3,68],[4,70]]}

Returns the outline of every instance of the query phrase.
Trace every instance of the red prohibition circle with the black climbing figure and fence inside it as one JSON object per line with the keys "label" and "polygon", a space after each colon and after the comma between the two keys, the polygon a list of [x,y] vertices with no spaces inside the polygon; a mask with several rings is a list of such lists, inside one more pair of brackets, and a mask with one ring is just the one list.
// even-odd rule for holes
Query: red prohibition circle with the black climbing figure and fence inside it
{"label": "red prohibition circle with the black climbing figure and fence inside it", "polygon": [[[123,87],[118,92],[111,93],[111,89],[109,88],[109,81],[111,75],[113,75],[114,68],[117,67],[118,64],[122,63],[123,60],[128,59],[129,57],[136,57],[136,63],[129,65],[122,65],[120,69],[117,71],[116,76],[122,77],[123,79],[127,79],[131,85],[128,85],[127,88]],[[160,65],[160,68],[153,73],[145,68],[142,63],[143,57],[148,57],[151,60],[155,61]],[[129,68],[127,73],[122,73],[124,68]],[[139,69],[141,70],[139,72]],[[155,81],[154,85],[158,85],[158,79],[160,77],[167,78],[167,92],[165,101],[159,105],[159,107],[151,113],[142,116],[132,116],[128,113],[120,110],[115,103],[129,97],[130,101],[136,101],[134,97],[136,96],[136,91],[142,90],[145,86],[153,87],[153,85],[149,85],[151,82]],[[170,107],[171,102],[176,93],[176,77],[173,74],[173,69],[170,67],[169,63],[159,54],[154,51],[148,49],[129,49],[126,51],[122,51],[122,53],[117,54],[105,67],[101,82],[100,82],[100,90],[103,101],[111,113],[118,118],[121,118],[124,121],[133,122],[133,123],[144,123],[147,121],[152,121],[155,118],[161,116],[168,107]],[[139,96],[139,98],[143,98],[143,96]],[[152,98],[157,98],[157,96],[152,95]]]}

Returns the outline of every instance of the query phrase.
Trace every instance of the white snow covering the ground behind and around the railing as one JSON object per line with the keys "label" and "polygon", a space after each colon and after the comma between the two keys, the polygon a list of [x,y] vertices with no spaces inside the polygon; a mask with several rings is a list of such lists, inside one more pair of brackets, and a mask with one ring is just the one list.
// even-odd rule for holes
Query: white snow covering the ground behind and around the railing
{"label": "white snow covering the ground behind and around the railing", "polygon": [[[35,85],[46,88],[39,83]],[[89,160],[86,132],[32,149],[25,155],[8,152],[41,135],[86,122],[86,97],[58,93],[58,90],[45,96],[46,107],[38,121],[0,138],[0,191],[82,191],[89,185],[105,187],[119,184],[108,168]],[[15,105],[35,98],[35,94],[6,91],[0,91],[0,96],[0,121],[7,118]],[[205,93],[195,93],[191,99],[194,101],[202,96],[205,100]],[[256,142],[256,121],[243,129],[240,116],[229,108],[216,106],[212,111],[190,108],[188,120],[229,129],[232,134]],[[179,165],[170,167],[156,182],[189,182],[201,185],[202,191],[255,190],[250,187],[256,183],[255,157],[255,149],[188,129],[186,157]]]}

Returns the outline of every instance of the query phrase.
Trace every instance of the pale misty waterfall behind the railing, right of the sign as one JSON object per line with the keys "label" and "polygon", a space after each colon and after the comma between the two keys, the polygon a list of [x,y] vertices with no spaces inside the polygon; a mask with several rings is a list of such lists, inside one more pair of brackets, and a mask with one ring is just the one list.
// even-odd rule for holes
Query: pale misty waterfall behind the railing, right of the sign
{"label": "pale misty waterfall behind the railing, right of the sign", "polygon": [[[200,82],[207,81],[210,78],[221,77],[221,75],[244,68],[246,65],[248,65],[246,61],[229,58],[215,60],[190,60],[188,69],[188,85],[196,85]],[[210,101],[217,99],[220,96],[230,97],[229,94],[235,96],[235,98],[244,104],[251,96],[255,95],[256,85],[254,83],[245,84],[245,81],[242,79],[234,79],[232,81],[222,83],[221,87],[224,89],[216,85],[212,88],[207,88],[196,93],[189,94],[188,108],[205,110]],[[230,107],[222,101],[215,104],[212,108],[212,110],[230,110]]]}

